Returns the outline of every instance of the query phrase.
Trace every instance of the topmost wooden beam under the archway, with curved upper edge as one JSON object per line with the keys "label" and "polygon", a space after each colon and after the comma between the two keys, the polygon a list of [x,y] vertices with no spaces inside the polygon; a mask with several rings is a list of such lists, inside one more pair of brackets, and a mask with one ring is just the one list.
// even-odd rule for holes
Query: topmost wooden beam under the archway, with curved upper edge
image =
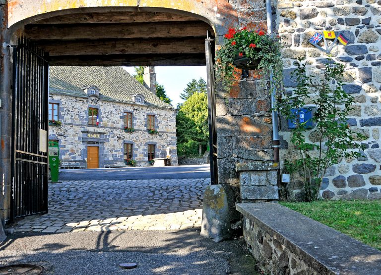
{"label": "topmost wooden beam under the archway, with curved upper edge", "polygon": [[145,23],[165,21],[194,21],[193,17],[168,12],[86,12],[54,16],[35,22],[36,24],[77,23]]}

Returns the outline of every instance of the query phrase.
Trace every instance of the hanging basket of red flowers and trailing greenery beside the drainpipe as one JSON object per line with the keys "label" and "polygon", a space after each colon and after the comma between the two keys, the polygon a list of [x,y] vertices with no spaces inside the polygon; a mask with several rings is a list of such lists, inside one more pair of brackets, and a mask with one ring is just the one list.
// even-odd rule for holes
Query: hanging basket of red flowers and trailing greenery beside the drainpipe
{"label": "hanging basket of red flowers and trailing greenery beside the drainpipe", "polygon": [[283,83],[282,43],[279,36],[269,36],[261,30],[229,29],[221,49],[216,52],[216,79],[226,92],[237,80],[237,70],[260,70],[260,75],[273,74],[273,84]]}

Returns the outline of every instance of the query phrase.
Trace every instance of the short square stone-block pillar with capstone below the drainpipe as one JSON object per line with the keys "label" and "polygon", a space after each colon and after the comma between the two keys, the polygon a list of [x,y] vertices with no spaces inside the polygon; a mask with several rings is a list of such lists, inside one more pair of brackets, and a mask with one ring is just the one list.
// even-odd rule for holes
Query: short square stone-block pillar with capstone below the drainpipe
{"label": "short square stone-block pillar with capstone below the drainpipe", "polygon": [[239,163],[241,200],[243,203],[278,199],[279,163]]}

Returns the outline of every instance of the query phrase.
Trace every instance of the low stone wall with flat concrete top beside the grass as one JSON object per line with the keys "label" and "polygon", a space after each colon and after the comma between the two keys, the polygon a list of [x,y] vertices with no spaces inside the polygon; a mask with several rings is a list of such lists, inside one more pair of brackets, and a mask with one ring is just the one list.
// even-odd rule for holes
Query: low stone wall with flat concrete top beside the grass
{"label": "low stone wall with flat concrete top beside the grass", "polygon": [[251,252],[269,274],[381,274],[381,251],[278,203],[237,210]]}

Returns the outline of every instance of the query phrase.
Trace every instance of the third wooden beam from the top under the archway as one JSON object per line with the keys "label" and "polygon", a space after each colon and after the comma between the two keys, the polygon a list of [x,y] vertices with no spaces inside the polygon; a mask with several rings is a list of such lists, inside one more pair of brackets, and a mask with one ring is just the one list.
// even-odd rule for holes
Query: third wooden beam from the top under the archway
{"label": "third wooden beam from the top under the archway", "polygon": [[51,56],[205,52],[203,38],[38,41],[37,45],[49,51]]}

